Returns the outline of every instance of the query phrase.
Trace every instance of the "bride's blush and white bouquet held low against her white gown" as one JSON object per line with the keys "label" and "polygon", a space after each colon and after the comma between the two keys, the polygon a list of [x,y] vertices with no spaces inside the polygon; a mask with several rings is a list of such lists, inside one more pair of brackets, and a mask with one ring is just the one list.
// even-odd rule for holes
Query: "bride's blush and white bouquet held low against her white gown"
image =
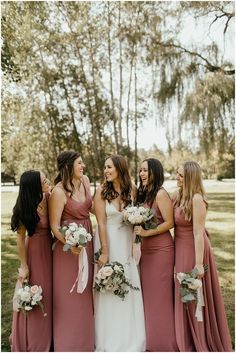
{"label": "bride's blush and white bouquet held low against her white gown", "polygon": [[95,276],[94,289],[98,292],[111,292],[124,300],[125,295],[129,293],[127,286],[134,290],[139,290],[134,287],[125,277],[124,266],[117,262],[106,264]]}

